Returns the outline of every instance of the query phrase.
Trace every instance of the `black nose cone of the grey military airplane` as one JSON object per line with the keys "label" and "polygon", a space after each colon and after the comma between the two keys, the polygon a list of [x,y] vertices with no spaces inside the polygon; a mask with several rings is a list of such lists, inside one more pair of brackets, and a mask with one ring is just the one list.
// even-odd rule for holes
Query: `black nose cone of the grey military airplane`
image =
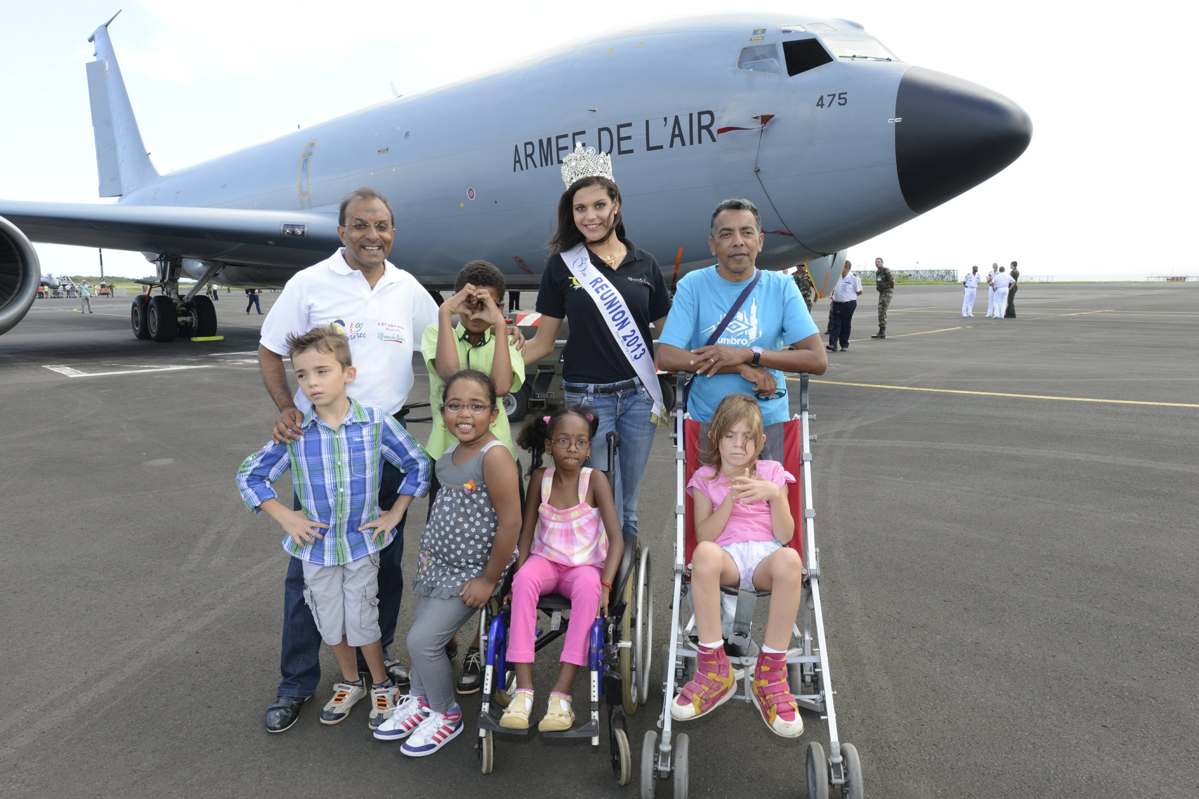
{"label": "black nose cone of the grey military airplane", "polygon": [[1007,97],[923,67],[899,80],[896,117],[899,189],[916,213],[999,174],[1032,140],[1032,120]]}

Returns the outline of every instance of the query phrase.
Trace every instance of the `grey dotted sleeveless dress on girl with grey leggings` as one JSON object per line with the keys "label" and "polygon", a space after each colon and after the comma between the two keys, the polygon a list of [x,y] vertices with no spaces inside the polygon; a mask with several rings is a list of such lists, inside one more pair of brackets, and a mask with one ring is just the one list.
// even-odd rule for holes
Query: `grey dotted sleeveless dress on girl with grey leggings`
{"label": "grey dotted sleeveless dress on girl with grey leggings", "polygon": [[[470,580],[483,574],[492,558],[492,543],[499,520],[492,497],[483,483],[483,455],[493,441],[464,464],[454,465],[457,444],[438,459],[438,480],[441,488],[433,502],[429,523],[421,535],[416,556],[416,582],[412,591],[424,597],[448,599],[457,597]],[[516,550],[504,568],[505,574],[517,559]],[[504,585],[502,576],[495,589]]]}

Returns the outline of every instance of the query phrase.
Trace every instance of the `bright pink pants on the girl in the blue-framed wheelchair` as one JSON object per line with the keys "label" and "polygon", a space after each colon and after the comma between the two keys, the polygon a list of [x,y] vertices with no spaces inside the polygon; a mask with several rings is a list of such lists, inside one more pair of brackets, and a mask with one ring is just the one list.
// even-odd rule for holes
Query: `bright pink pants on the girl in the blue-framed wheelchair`
{"label": "bright pink pants on the girl in the blue-framed wheelchair", "polygon": [[537,627],[537,600],[544,594],[562,594],[571,600],[562,662],[588,665],[588,638],[600,610],[597,565],[561,565],[540,555],[530,555],[512,579],[512,628],[508,630],[508,661],[531,664]]}

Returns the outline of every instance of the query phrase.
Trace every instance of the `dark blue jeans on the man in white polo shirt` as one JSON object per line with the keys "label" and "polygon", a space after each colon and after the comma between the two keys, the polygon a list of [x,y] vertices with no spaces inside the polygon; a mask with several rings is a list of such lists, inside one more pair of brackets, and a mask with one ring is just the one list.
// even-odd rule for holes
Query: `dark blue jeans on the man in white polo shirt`
{"label": "dark blue jeans on the man in white polo shirt", "polygon": [[[406,426],[406,425],[405,425]],[[379,480],[379,506],[391,510],[396,504],[396,492],[404,482],[404,473],[384,461]],[[295,501],[293,510],[300,509]],[[404,557],[404,522],[399,522],[396,538],[379,553],[379,631],[382,634],[384,658],[387,647],[396,638],[396,622],[399,618],[399,600],[404,593],[404,574],[400,561]],[[288,576],[283,581],[283,650],[279,654],[279,683],[277,696],[312,696],[320,684],[320,632],[312,621],[312,611],[303,601],[303,565],[300,558],[288,558]],[[359,671],[367,665],[359,652]]]}

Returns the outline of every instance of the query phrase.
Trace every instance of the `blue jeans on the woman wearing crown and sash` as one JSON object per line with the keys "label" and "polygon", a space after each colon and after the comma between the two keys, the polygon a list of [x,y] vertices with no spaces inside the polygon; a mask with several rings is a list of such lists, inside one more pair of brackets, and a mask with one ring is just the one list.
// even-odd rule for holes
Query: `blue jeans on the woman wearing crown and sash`
{"label": "blue jeans on the woman wearing crown and sash", "polygon": [[617,450],[619,468],[613,494],[616,497],[616,510],[620,523],[626,533],[637,535],[637,498],[641,494],[641,478],[645,466],[650,462],[650,448],[653,446],[653,434],[657,425],[650,418],[653,399],[645,387],[638,382],[635,388],[626,388],[614,394],[600,394],[595,389],[614,383],[562,383],[566,401],[595,408],[600,429],[591,444],[591,458],[588,462],[598,470],[608,471],[608,441],[610,430],[620,434]]}

